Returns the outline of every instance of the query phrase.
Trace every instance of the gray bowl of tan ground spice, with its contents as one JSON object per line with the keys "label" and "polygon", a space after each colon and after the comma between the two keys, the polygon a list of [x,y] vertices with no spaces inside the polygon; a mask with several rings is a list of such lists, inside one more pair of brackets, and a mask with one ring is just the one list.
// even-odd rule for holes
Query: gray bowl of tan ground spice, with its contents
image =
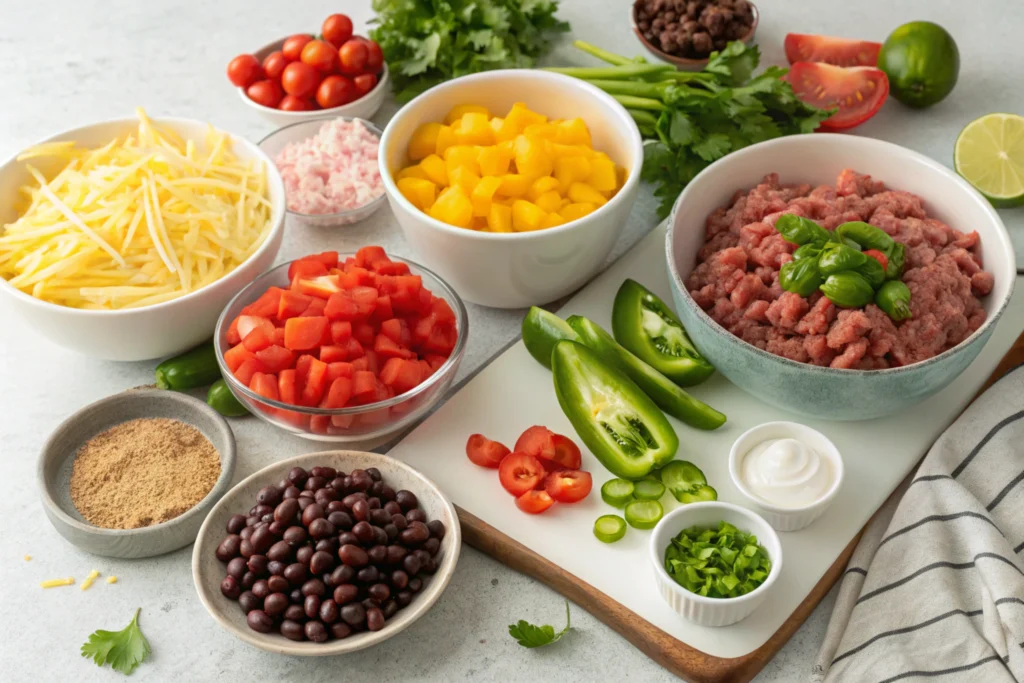
{"label": "gray bowl of tan ground spice, with its contents", "polygon": [[39,459],[46,516],[96,555],[138,558],[193,543],[230,487],[234,435],[203,401],[126,391],[63,421]]}

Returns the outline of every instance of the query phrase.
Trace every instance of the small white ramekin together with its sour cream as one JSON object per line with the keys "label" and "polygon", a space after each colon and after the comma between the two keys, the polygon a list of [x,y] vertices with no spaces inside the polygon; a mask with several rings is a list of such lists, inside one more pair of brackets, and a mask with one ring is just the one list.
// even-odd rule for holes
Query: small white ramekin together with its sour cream
{"label": "small white ramekin together with its sour cream", "polygon": [[819,431],[796,422],[766,422],[732,444],[729,476],[773,528],[796,531],[836,498],[843,458]]}

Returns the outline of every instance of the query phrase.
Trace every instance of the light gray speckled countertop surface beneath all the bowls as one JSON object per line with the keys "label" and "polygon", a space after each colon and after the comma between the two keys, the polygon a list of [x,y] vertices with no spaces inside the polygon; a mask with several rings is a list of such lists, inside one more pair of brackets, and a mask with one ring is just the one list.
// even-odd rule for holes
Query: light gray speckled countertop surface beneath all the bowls
{"label": "light gray speckled countertop surface beneath all the bowls", "polygon": [[[130,115],[142,105],[153,116],[208,120],[258,140],[270,126],[245,108],[224,76],[227,61],[270,40],[319,26],[332,11],[349,11],[357,27],[369,2],[244,2],[243,0],[51,0],[0,3],[0,157],[84,123]],[[563,0],[559,14],[572,36],[616,52],[638,53],[629,28],[629,2]],[[858,133],[898,141],[949,164],[955,131],[987,112],[1024,113],[1015,90],[1024,14],[1011,0],[761,0],[758,42],[765,62],[781,62],[787,31],[883,40],[907,20],[930,18],[959,44],[961,82],[950,98],[925,113],[890,102]],[[1013,57],[1012,55],[1017,55]],[[567,41],[553,63],[587,63]],[[375,117],[383,125],[393,103]],[[643,187],[613,257],[656,223],[655,204]],[[1020,211],[1002,212],[1024,233]],[[1024,245],[1024,239],[1018,240]],[[408,253],[389,211],[348,228],[292,226],[281,259],[324,249],[381,244]],[[1020,248],[1018,249],[1020,252]],[[410,254],[415,257],[415,254]],[[1024,258],[1018,257],[1021,263]],[[463,376],[485,362],[518,330],[521,311],[470,306]],[[0,306],[0,678],[11,681],[114,681],[119,675],[81,658],[79,647],[97,628],[120,630],[141,606],[153,655],[138,680],[380,680],[380,681],[669,681],[674,677],[581,608],[574,630],[551,648],[527,651],[507,635],[519,618],[561,624],[561,598],[532,579],[464,548],[455,578],[421,621],[387,643],[344,658],[299,659],[247,647],[221,631],[196,597],[191,549],[159,558],[124,561],[90,556],[66,543],[46,522],[35,488],[36,458],[56,425],[78,408],[111,393],[152,382],[153,362],[97,361],[53,346]],[[282,435],[254,418],[234,422],[240,480],[264,465],[317,450]],[[32,555],[31,561],[23,556]],[[116,574],[97,583],[42,591],[45,579],[90,569]],[[624,581],[628,578],[624,578]],[[820,643],[834,594],[756,679],[805,680]]]}

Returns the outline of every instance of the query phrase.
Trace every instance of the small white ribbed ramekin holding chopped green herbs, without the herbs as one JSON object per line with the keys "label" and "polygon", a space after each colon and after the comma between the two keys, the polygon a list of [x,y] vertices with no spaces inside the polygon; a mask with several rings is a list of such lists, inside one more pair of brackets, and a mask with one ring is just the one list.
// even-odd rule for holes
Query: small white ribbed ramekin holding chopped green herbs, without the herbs
{"label": "small white ribbed ramekin holding chopped green herbs, without the herbs", "polygon": [[[723,520],[740,531],[756,536],[768,551],[772,567],[764,583],[746,595],[738,598],[706,598],[687,591],[669,575],[665,570],[665,549],[669,547],[673,537],[684,528],[717,528],[718,523]],[[650,536],[650,561],[654,565],[658,593],[680,615],[698,626],[729,626],[746,618],[772,590],[775,580],[782,571],[782,544],[768,522],[746,508],[721,501],[691,503],[665,515],[654,527]]]}

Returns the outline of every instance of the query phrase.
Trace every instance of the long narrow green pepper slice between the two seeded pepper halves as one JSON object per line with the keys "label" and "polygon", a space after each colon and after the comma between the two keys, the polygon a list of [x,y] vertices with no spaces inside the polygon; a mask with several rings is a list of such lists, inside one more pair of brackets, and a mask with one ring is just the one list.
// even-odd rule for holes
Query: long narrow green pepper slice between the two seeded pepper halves
{"label": "long narrow green pepper slice between the two seeded pepper halves", "polygon": [[582,315],[572,315],[567,323],[584,345],[626,373],[658,408],[672,417],[697,429],[717,429],[725,424],[724,415],[686,393],[668,377],[620,346],[601,326]]}

